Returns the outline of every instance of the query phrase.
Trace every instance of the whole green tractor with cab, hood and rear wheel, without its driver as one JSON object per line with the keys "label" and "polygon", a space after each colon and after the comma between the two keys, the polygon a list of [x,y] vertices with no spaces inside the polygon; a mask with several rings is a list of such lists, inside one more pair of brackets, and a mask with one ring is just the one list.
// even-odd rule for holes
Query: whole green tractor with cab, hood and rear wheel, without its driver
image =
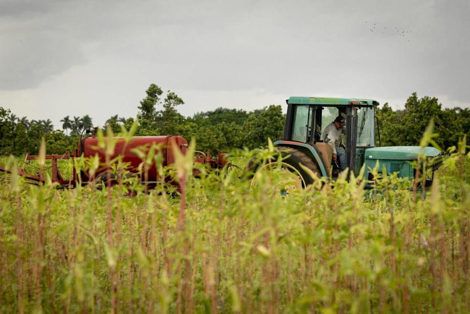
{"label": "whole green tractor with cab, hood and rear wheel, without its driver", "polygon": [[[381,147],[379,121],[374,114],[374,109],[378,106],[376,100],[290,97],[286,102],[284,136],[273,144],[283,156],[282,168],[297,174],[304,187],[312,184],[313,178],[299,164],[319,177],[335,179],[338,176],[337,164],[332,161],[333,149],[320,140],[322,130],[337,116],[344,117],[346,122],[346,132],[343,135],[346,167],[357,176],[365,164],[366,188],[374,187],[374,175],[371,169],[376,167],[377,161],[379,173],[383,169],[387,174],[398,172],[399,177],[413,181],[416,174],[413,161],[416,161],[420,154],[429,159],[441,154],[434,147],[425,147],[423,150],[419,146]],[[378,147],[376,147],[377,142]],[[434,170],[441,164],[434,163],[431,175],[422,180],[424,187],[420,183],[419,188],[431,185]],[[256,166],[252,162],[249,167],[257,172],[275,165],[279,166],[279,162],[273,160]]]}

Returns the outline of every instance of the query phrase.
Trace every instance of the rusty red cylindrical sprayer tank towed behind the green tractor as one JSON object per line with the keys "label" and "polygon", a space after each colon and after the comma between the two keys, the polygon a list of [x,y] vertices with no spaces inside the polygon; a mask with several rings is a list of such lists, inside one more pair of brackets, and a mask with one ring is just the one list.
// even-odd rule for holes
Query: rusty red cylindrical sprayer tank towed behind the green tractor
{"label": "rusty red cylindrical sprayer tank towed behind the green tractor", "polygon": [[[188,141],[179,135],[134,136],[127,143],[125,143],[124,138],[122,137],[116,137],[115,139],[117,140],[117,143],[111,159],[118,157],[118,155],[123,156],[122,162],[130,164],[128,170],[131,172],[138,172],[139,164],[142,162],[141,158],[132,151],[135,148],[139,147],[141,150],[148,150],[152,144],[159,144],[163,155],[163,166],[168,166],[175,162],[172,145],[176,145],[176,147],[178,147],[178,149],[184,154],[188,147]],[[104,151],[98,149],[98,139],[96,137],[88,137],[83,139],[81,143],[78,143],[77,156],[81,156],[82,152],[87,158],[93,157],[97,154],[99,156],[100,165],[106,164]],[[97,169],[95,176],[97,177],[105,172],[106,167],[100,167]],[[88,173],[82,172],[82,181],[88,180]],[[146,181],[155,182],[157,180],[157,169],[155,165],[152,165],[148,170]]]}

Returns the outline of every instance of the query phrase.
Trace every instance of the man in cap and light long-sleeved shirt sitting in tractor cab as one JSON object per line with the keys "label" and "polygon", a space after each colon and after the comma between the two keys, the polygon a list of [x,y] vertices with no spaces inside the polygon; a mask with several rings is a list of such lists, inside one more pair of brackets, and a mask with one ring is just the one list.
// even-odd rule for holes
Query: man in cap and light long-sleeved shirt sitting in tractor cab
{"label": "man in cap and light long-sleeved shirt sitting in tractor cab", "polygon": [[333,162],[339,161],[339,168],[344,171],[346,165],[346,150],[344,148],[343,134],[346,134],[345,119],[339,115],[329,123],[320,136],[320,141],[328,143],[333,148]]}

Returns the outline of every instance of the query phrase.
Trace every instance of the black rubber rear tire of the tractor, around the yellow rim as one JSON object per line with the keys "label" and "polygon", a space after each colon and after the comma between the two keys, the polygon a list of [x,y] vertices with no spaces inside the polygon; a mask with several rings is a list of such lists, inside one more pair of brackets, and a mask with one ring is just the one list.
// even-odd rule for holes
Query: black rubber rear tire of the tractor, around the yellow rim
{"label": "black rubber rear tire of the tractor, around the yellow rim", "polygon": [[[290,166],[294,167],[298,171],[298,173],[302,176],[302,179],[305,182],[305,185],[313,184],[314,180],[310,176],[309,173],[307,173],[302,167],[299,166],[299,164],[302,164],[302,166],[304,166],[305,168],[310,169],[313,173],[317,174],[318,177],[322,176],[320,170],[318,169],[318,166],[305,153],[295,148],[287,147],[287,146],[277,146],[276,148],[282,154],[282,157],[288,156],[286,159],[283,160],[283,162],[285,162],[286,164],[289,164]],[[276,160],[272,161],[272,163],[276,163],[276,162],[277,162]],[[257,164],[255,158],[252,158],[248,162],[247,169],[255,173],[258,171],[260,166],[261,165]],[[302,183],[302,185],[304,184]]]}

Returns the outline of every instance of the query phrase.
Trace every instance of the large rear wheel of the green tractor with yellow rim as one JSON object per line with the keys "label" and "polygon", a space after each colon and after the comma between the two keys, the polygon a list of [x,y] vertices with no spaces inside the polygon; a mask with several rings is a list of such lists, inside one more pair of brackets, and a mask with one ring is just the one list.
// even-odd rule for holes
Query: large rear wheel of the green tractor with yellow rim
{"label": "large rear wheel of the green tractor with yellow rim", "polygon": [[[298,175],[301,186],[303,188],[305,188],[307,185],[313,184],[313,178],[302,167],[300,167],[299,164],[302,164],[302,166],[304,166],[305,168],[308,168],[313,173],[316,173],[318,177],[321,177],[321,172],[318,169],[317,165],[313,160],[311,160],[307,155],[305,155],[305,153],[295,148],[287,146],[278,146],[276,148],[279,150],[279,152],[281,152],[283,157],[288,156],[286,159],[282,160],[281,167]],[[259,165],[257,164],[255,158],[252,158],[248,162],[247,169],[256,174],[258,171],[273,167],[279,167],[279,163],[277,160],[269,161],[265,165]]]}

